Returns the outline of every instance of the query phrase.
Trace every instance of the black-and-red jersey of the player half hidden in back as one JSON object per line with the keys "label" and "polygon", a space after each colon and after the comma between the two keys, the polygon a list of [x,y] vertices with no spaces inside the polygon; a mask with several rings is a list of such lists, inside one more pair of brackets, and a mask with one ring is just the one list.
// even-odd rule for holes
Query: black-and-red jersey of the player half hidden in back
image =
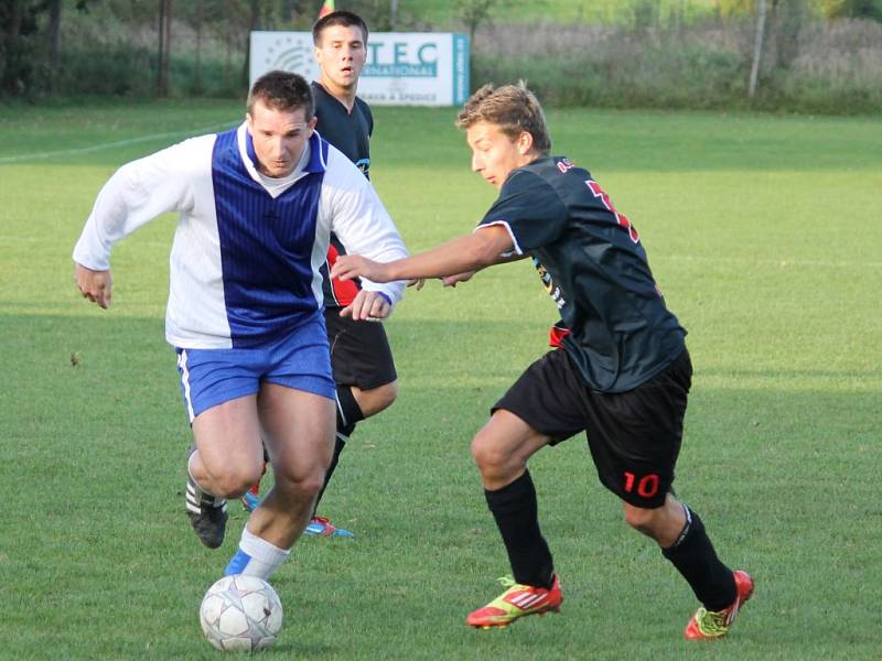
{"label": "black-and-red jersey of the player half hidden in back", "polygon": [[[311,87],[315,99],[315,118],[319,120],[315,130],[355,163],[367,178],[370,178],[370,134],[374,132],[370,107],[355,97],[355,105],[349,112],[346,106],[319,83],[313,80]],[[329,277],[331,267],[341,254],[346,254],[346,250],[336,235],[332,234],[327,260],[321,268],[324,304],[327,307],[345,307],[352,303],[361,289],[357,280],[332,281]]]}

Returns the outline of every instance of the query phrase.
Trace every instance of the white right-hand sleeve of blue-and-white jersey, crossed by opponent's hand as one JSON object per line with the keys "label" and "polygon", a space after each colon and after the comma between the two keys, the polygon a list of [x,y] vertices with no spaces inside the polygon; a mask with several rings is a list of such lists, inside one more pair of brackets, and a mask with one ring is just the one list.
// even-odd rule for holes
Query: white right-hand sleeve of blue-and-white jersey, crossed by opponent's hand
{"label": "white right-hand sleeve of blue-and-white jersey, crossed by opponent's hand", "polygon": [[[363,254],[378,262],[408,256],[405,241],[392,223],[374,186],[353,163],[333,147],[322,184],[320,216],[348,254]],[[362,279],[362,288],[383,292],[392,304],[401,300],[407,281],[372,282]]]}

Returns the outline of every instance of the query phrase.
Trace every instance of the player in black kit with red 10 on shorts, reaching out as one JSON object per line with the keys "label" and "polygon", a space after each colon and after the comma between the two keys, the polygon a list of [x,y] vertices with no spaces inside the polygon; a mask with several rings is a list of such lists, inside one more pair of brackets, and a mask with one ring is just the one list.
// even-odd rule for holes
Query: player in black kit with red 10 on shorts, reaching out
{"label": "player in black kit with red 10 on shorts, reaching out", "polygon": [[388,263],[342,257],[332,274],[441,278],[451,285],[526,257],[560,312],[551,332],[556,350],[496,402],[472,442],[514,578],[467,624],[505,627],[559,608],[560,582],[527,460],[585,431],[600,480],[622,500],[625,521],[658,543],[701,603],[686,638],[723,636],[753,581],[717,557],[701,519],[671,489],[692,367],[686,330],[665,305],[639,234],[587,170],[548,155],[541,107],[523,85],[484,86],[458,124],[472,169],[499,189],[478,229]]}

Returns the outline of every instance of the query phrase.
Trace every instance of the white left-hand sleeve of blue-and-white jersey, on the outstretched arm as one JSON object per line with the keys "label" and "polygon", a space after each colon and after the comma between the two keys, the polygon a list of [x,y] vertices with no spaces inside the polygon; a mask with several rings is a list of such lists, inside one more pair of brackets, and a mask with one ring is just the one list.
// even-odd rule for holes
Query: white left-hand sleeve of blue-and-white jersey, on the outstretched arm
{"label": "white left-hand sleeve of blue-and-white jersey, on the outstretched arm", "polygon": [[98,193],[74,261],[107,270],[114,243],[161,214],[192,208],[193,175],[211,170],[214,140],[215,136],[193,138],[117,170]]}

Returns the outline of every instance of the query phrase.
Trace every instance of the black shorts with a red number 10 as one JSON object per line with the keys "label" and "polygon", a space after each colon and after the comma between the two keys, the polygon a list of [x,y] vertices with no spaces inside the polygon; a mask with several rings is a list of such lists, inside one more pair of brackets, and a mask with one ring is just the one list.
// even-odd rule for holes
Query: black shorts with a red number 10
{"label": "black shorts with a red number 10", "polygon": [[692,381],[689,351],[627,392],[587,387],[564,350],[534,362],[493,411],[510,411],[555,445],[587,432],[600,481],[625,502],[657,508],[674,481]]}

